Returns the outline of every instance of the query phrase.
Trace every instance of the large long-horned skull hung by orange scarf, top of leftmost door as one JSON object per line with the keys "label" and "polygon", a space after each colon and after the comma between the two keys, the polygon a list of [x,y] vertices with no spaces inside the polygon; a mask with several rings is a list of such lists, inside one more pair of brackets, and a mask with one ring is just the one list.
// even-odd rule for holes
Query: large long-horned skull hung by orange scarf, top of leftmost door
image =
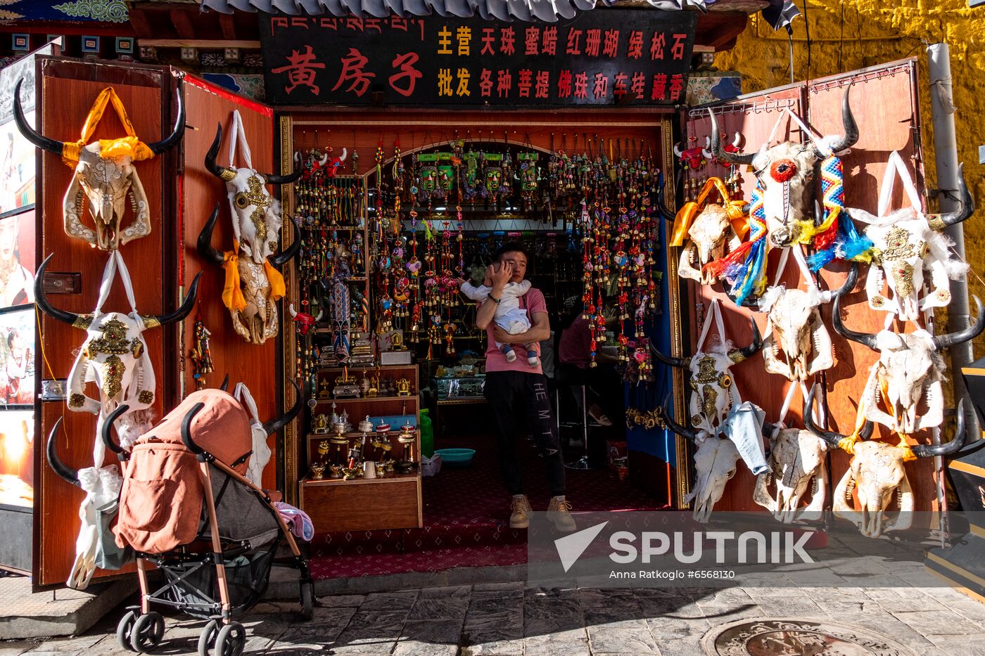
{"label": "large long-horned skull hung by orange scarf, top of leftmost door", "polygon": [[[21,107],[21,83],[14,90],[14,122],[24,137],[37,148],[63,157],[68,144],[45,137],[36,132],[24,117]],[[141,152],[141,159],[161,155],[181,140],[184,133],[185,112],[181,100],[181,81],[178,81],[178,115],[171,134],[162,141],[147,144]],[[112,92],[109,89],[109,92]],[[119,140],[123,141],[123,140]],[[150,202],[144,185],[140,181],[134,164],[134,153],[128,155],[103,156],[107,140],[96,141],[78,149],[78,164],[72,182],[65,192],[62,212],[65,233],[71,237],[84,239],[101,250],[116,250],[121,245],[151,233]],[[116,143],[108,140],[108,143]],[[71,144],[75,146],[75,144]],[[64,157],[63,157],[64,159]],[[68,162],[68,160],[66,160]],[[88,200],[89,211],[93,217],[94,228],[83,224],[80,215],[83,210],[83,197]],[[121,228],[126,211],[127,197],[133,210],[133,221]]]}

